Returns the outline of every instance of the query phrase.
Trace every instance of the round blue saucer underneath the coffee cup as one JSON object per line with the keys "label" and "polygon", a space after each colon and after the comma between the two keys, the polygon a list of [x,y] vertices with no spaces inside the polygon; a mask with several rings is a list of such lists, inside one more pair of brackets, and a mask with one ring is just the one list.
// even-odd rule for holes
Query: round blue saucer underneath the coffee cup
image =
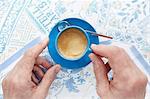
{"label": "round blue saucer underneath the coffee cup", "polygon": [[[59,54],[58,50],[57,50],[57,38],[58,35],[60,35],[60,30],[59,28],[61,28],[60,23],[61,22],[67,22],[69,23],[70,26],[78,26],[80,28],[82,28],[83,30],[89,30],[89,31],[93,31],[96,32],[95,29],[86,21],[82,20],[82,19],[78,19],[78,18],[67,18],[64,19],[60,22],[58,22],[53,29],[51,30],[50,34],[49,34],[49,44],[48,44],[48,50],[49,53],[52,57],[52,59],[54,60],[54,62],[56,64],[60,64],[63,68],[66,69],[78,69],[81,67],[84,67],[86,65],[88,65],[90,63],[90,59],[88,57],[88,55],[92,52],[90,50],[90,46],[91,44],[99,44],[99,39],[97,36],[91,35],[89,32],[87,33],[87,36],[89,38],[88,41],[88,50],[85,52],[85,54],[77,59],[77,60],[68,60],[64,57],[62,57],[62,55]],[[63,27],[63,25],[62,25]]]}

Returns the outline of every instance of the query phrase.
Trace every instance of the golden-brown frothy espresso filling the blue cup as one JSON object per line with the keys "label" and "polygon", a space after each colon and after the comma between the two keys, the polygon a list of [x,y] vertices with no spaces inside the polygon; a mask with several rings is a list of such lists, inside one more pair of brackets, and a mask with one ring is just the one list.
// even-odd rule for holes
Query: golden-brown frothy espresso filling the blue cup
{"label": "golden-brown frothy espresso filling the blue cup", "polygon": [[87,47],[85,34],[76,28],[70,28],[62,32],[57,42],[59,52],[65,58],[79,58],[83,55]]}

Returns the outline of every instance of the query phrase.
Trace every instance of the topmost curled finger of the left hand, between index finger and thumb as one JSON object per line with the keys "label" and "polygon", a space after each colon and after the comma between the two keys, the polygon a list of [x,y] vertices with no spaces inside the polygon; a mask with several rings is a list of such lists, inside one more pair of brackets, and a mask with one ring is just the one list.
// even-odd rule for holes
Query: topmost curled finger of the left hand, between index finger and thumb
{"label": "topmost curled finger of the left hand, between index finger and thumb", "polygon": [[43,67],[49,69],[52,64],[50,64],[45,58],[41,57],[41,56],[38,56],[35,64],[37,65],[42,65]]}

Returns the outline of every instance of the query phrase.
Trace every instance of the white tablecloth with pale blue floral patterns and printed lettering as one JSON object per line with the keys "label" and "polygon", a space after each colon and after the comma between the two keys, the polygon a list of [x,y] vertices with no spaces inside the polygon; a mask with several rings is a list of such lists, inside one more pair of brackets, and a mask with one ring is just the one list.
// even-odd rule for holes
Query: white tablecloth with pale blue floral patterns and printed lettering
{"label": "white tablecloth with pale blue floral patterns and printed lettering", "polygon": [[[0,64],[68,17],[82,18],[98,33],[135,45],[150,64],[150,0],[0,0]],[[91,91],[95,88],[91,66],[62,70],[58,77],[62,80],[55,80],[48,98],[62,97],[63,93],[97,98]]]}

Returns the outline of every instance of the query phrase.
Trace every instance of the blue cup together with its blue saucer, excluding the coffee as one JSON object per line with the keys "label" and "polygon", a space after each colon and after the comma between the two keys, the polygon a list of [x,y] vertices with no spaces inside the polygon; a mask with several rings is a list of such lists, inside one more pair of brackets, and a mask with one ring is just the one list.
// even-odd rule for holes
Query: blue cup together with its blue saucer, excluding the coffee
{"label": "blue cup together with its blue saucer, excluding the coffee", "polygon": [[[77,29],[81,31],[87,39],[87,46],[81,57],[67,58],[58,50],[58,38],[68,29]],[[49,34],[50,42],[48,44],[48,50],[55,63],[60,64],[63,68],[67,69],[78,69],[90,63],[91,60],[88,57],[92,52],[90,46],[93,43],[99,44],[99,39],[97,36],[91,35],[91,33],[86,30],[95,32],[95,29],[89,23],[78,18],[64,19],[54,26]]]}

